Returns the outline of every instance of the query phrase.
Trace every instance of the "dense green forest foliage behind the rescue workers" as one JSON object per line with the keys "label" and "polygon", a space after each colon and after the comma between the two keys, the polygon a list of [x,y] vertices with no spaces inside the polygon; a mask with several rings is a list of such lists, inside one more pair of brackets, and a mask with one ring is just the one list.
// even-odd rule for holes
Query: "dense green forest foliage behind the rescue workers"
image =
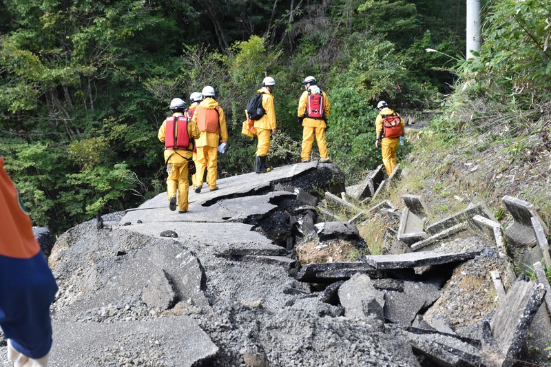
{"label": "dense green forest foliage behind the rescue workers", "polygon": [[[296,162],[300,82],[329,94],[330,155],[349,178],[370,169],[379,99],[428,107],[464,50],[460,0],[3,0],[0,154],[34,224],[59,232],[164,190],[157,130],[171,98],[213,85],[230,129],[220,176],[250,171],[240,135],[262,78],[275,78],[271,163]],[[367,140],[366,140],[367,139]]]}

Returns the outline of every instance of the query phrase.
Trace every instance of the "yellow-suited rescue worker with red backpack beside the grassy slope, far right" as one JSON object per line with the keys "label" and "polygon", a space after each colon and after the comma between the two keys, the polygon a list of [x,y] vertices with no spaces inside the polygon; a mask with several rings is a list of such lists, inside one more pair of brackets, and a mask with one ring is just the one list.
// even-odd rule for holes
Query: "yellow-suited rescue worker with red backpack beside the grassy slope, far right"
{"label": "yellow-suited rescue worker with red backpack beside the grassy slope, far right", "polygon": [[379,114],[375,119],[375,147],[381,144],[381,154],[386,174],[391,176],[394,171],[396,160],[396,149],[398,144],[404,143],[404,119],[393,111],[385,101],[377,103]]}

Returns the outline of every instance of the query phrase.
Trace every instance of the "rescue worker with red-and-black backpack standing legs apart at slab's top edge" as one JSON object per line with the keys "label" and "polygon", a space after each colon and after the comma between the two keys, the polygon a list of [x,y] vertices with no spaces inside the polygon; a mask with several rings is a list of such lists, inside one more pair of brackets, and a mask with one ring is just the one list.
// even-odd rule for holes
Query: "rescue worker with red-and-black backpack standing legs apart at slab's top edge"
{"label": "rescue worker with red-and-black backpack standing legs apart at slab's top edge", "polygon": [[320,162],[330,163],[327,154],[327,141],[325,140],[326,119],[329,116],[331,105],[325,92],[322,92],[313,76],[306,76],[302,85],[304,92],[298,101],[298,122],[302,123],[302,162],[309,162],[312,153],[312,145],[318,143]]}

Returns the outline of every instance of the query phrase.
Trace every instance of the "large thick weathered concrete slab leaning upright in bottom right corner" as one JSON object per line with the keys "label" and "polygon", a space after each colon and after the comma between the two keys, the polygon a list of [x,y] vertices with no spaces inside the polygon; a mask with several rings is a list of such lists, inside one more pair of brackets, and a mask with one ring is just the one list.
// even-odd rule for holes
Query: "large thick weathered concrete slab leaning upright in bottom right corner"
{"label": "large thick weathered concrete slab leaning upright in bottom right corner", "polygon": [[528,328],[536,315],[543,297],[543,284],[528,280],[521,274],[499,304],[490,322],[491,337],[499,348],[501,366],[512,366],[519,357]]}

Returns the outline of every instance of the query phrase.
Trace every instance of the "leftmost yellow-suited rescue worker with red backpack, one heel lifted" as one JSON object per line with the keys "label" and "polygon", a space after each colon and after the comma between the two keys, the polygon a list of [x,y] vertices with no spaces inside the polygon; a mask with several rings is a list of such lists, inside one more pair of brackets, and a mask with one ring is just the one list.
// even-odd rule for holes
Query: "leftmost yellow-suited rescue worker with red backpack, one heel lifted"
{"label": "leftmost yellow-suited rescue worker with red backpack, one heel lifted", "polygon": [[[191,152],[195,148],[195,141],[200,136],[197,125],[184,115],[185,108],[184,101],[174,98],[170,103],[172,116],[163,121],[158,132],[159,140],[165,143],[169,209],[175,211],[178,207],[179,213],[185,213],[188,209],[188,167],[191,161]],[[176,191],[178,191],[178,196],[176,196]]]}

